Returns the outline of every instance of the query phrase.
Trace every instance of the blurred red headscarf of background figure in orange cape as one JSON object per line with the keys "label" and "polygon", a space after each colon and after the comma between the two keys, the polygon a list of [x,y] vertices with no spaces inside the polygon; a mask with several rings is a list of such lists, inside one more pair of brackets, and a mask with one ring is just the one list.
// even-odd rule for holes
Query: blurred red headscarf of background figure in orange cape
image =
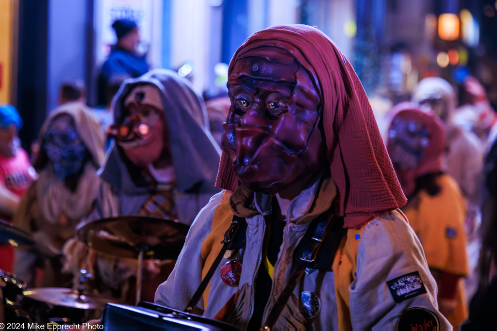
{"label": "blurred red headscarf of background figure in orange cape", "polygon": [[392,113],[392,122],[396,118],[414,120],[426,128],[430,137],[429,144],[424,149],[423,155],[415,169],[396,170],[404,194],[410,196],[416,187],[415,181],[417,177],[442,171],[443,157],[445,155],[445,130],[443,129],[443,123],[438,117],[435,117],[431,113],[423,112],[409,102],[397,105],[392,109]]}

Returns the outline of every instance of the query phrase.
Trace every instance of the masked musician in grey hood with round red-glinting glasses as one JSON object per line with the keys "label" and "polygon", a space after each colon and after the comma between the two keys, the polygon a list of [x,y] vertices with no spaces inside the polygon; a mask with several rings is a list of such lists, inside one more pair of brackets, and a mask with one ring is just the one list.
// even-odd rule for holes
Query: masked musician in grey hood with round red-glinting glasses
{"label": "masked musician in grey hood with round red-glinting glasses", "polygon": [[[100,176],[103,184],[84,222],[138,215],[190,225],[219,192],[214,183],[220,150],[200,96],[176,72],[155,69],[123,83],[114,123],[109,132],[114,141]],[[136,260],[101,254],[97,265],[106,286],[118,291],[136,274]],[[170,268],[163,272],[167,276]]]}

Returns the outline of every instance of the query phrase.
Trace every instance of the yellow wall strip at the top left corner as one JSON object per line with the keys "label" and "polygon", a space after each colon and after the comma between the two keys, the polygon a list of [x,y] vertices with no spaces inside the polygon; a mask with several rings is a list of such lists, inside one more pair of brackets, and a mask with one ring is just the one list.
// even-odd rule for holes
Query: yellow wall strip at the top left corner
{"label": "yellow wall strip at the top left corner", "polygon": [[13,1],[0,0],[0,103],[10,102]]}

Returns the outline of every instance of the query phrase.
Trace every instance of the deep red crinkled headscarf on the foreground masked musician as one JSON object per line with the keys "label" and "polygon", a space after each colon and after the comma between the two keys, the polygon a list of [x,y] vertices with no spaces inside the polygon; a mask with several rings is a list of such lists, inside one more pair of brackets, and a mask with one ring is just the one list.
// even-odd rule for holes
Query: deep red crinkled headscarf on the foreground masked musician
{"label": "deep red crinkled headscarf on the foreground masked musician", "polygon": [[[360,227],[406,204],[362,84],[331,39],[307,25],[270,27],[252,34],[238,48],[228,75],[243,53],[264,46],[288,50],[319,80],[327,156],[337,188],[335,213],[344,217],[344,227]],[[216,187],[231,191],[238,187],[225,152]]]}

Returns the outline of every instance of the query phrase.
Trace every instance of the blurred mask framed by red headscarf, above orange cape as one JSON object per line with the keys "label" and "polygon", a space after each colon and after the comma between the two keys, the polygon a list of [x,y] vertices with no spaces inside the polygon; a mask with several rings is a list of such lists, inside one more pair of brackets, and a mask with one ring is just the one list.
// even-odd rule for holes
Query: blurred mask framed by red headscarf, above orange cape
{"label": "blurred mask framed by red headscarf, above orange cape", "polygon": [[413,119],[397,117],[392,122],[388,137],[388,153],[396,168],[417,168],[430,143],[426,127]]}

